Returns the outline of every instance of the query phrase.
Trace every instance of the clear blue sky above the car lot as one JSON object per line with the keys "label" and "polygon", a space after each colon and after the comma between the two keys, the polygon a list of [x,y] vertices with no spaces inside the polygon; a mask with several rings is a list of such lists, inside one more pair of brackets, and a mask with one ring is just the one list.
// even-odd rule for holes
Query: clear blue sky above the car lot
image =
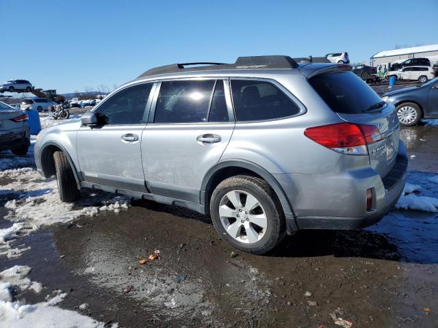
{"label": "clear blue sky above the car lot", "polygon": [[62,93],[240,55],[348,51],[364,61],[396,44],[438,43],[437,12],[437,0],[0,0],[0,82]]}

